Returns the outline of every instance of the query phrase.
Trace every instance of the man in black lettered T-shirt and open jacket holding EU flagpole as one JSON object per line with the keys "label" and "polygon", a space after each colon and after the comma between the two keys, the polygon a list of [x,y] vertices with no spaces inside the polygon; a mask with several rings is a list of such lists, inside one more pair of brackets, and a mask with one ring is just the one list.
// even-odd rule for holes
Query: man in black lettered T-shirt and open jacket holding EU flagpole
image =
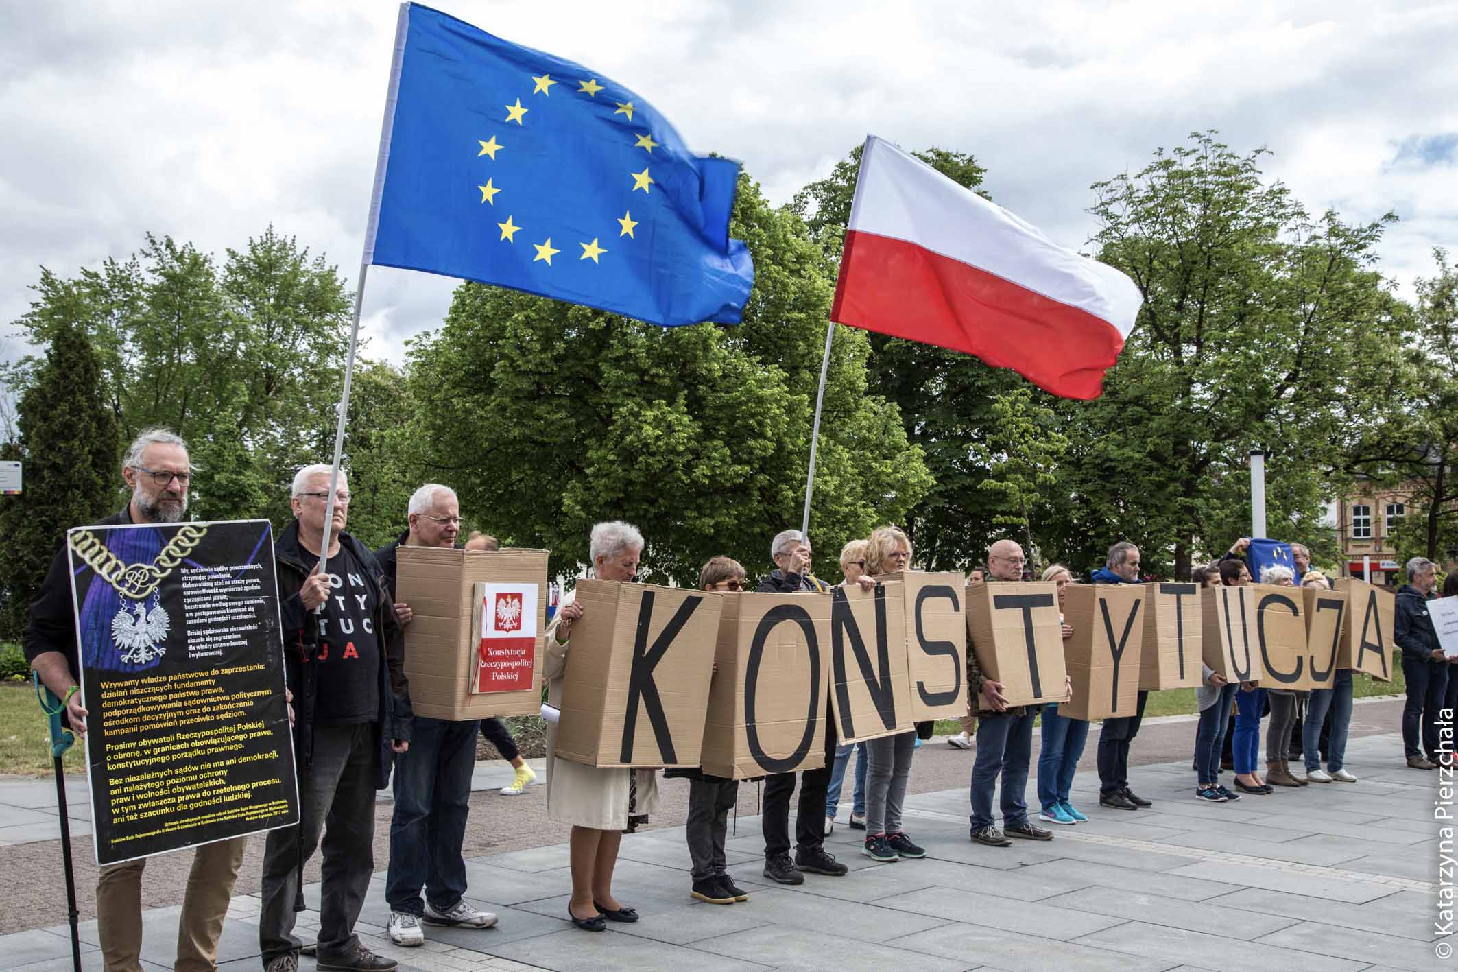
{"label": "man in black lettered T-shirt and open jacket holding EU flagpole", "polygon": [[397,965],[366,949],[354,922],[375,870],[375,790],[389,784],[391,753],[410,750],[414,718],[383,571],[344,532],[350,493],[343,469],[328,568],[319,573],[330,474],[328,465],[299,469],[295,520],[274,546],[284,672],[297,705],[299,823],[270,831],[264,848],[258,940],[268,972],[297,968],[293,925],[303,866],[315,848],[324,853],[318,968],[383,972]]}

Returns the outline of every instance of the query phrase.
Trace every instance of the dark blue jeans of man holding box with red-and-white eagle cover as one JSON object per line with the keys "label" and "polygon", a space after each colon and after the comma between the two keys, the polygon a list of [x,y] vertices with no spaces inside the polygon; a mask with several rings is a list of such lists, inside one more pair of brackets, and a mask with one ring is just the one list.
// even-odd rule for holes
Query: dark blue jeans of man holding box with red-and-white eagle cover
{"label": "dark blue jeans of man holding box with red-and-white eagle cover", "polygon": [[389,822],[391,911],[426,914],[420,889],[436,911],[465,895],[465,818],[471,809],[471,771],[480,721],[452,723],[416,717],[410,752],[395,755],[395,815]]}

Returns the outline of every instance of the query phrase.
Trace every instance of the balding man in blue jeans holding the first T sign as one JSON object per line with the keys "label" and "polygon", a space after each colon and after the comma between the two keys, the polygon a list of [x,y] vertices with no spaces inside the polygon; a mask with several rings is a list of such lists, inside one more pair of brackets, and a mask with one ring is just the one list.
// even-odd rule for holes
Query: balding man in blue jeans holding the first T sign
{"label": "balding man in blue jeans holding the first T sign", "polygon": [[[1026,564],[1022,546],[1013,541],[997,541],[987,551],[991,581],[1022,579]],[[1003,683],[983,675],[972,644],[967,646],[967,691],[981,697],[983,713],[977,724],[977,759],[972,762],[971,838],[987,847],[1012,847],[1010,836],[1029,841],[1051,841],[1053,832],[1028,819],[1028,765],[1032,761],[1032,723],[1037,707],[1009,707]],[[1002,777],[1000,809],[1003,826],[993,825],[993,794]]]}

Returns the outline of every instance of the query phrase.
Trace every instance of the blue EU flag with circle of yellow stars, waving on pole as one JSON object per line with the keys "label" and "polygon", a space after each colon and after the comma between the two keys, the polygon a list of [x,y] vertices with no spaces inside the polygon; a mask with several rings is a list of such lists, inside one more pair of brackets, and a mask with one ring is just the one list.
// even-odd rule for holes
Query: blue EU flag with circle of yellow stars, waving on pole
{"label": "blue EU flag with circle of yellow stars, waving on pole", "polygon": [[738,176],[612,79],[405,3],[364,262],[738,324],[754,284],[729,239]]}

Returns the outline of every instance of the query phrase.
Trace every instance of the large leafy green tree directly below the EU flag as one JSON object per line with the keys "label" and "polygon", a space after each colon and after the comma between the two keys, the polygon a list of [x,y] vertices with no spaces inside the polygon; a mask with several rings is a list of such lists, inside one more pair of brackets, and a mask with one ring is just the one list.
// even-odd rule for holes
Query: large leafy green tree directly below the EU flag
{"label": "large leafy green tree directly below the EU flag", "polygon": [[[478,284],[411,350],[427,469],[465,516],[516,545],[588,561],[604,519],[637,523],[650,579],[697,580],[714,554],[751,573],[800,522],[833,268],[803,222],[741,178],[730,226],[755,261],[738,326],[662,329]],[[895,407],[868,395],[863,334],[831,356],[811,533],[827,563],[929,487]]]}

